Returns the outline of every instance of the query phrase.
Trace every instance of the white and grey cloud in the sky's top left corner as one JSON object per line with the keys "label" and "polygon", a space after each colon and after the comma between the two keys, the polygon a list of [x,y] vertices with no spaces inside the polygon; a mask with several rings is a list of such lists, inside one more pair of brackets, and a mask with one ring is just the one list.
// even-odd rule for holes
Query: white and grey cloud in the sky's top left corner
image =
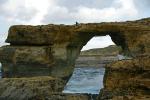
{"label": "white and grey cloud in the sky's top left corner", "polygon": [[42,24],[48,13],[47,7],[53,0],[5,0],[0,4],[0,12],[6,22],[12,24]]}

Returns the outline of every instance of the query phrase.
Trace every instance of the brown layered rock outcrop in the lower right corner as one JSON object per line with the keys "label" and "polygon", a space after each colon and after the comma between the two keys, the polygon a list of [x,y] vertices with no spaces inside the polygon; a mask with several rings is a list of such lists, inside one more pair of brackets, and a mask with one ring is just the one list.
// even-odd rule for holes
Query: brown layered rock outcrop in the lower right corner
{"label": "brown layered rock outcrop in the lower right corner", "polygon": [[113,62],[106,67],[104,89],[99,100],[148,100],[149,76],[150,56],[142,55],[132,60]]}

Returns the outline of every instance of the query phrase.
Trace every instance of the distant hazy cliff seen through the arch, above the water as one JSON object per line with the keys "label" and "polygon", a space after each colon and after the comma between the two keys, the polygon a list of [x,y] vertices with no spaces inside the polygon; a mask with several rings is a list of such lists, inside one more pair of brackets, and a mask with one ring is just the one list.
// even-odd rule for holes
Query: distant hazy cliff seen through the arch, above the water
{"label": "distant hazy cliff seen through the arch, above the water", "polygon": [[96,48],[82,51],[76,60],[76,67],[105,67],[112,61],[117,61],[121,48],[111,45],[105,48]]}

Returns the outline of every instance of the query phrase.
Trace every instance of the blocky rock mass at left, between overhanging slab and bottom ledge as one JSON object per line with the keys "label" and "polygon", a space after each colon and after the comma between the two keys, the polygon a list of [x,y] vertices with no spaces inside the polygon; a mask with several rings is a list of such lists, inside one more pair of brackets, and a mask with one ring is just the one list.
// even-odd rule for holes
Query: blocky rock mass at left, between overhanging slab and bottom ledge
{"label": "blocky rock mass at left, between overhanging slab and bottom ledge", "polygon": [[3,77],[50,75],[53,59],[46,46],[4,46],[0,51]]}

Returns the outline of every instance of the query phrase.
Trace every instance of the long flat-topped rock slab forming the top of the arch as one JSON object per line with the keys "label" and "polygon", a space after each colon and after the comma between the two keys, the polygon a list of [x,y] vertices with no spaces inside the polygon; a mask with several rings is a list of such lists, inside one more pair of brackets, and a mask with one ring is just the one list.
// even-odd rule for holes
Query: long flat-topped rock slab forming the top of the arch
{"label": "long flat-topped rock slab forming the top of the arch", "polygon": [[[150,18],[108,23],[87,23],[78,25],[15,25],[10,27],[7,43],[13,45],[51,45],[53,43],[77,42],[80,37],[107,35],[109,32],[150,31]],[[121,34],[121,33],[120,33]]]}

